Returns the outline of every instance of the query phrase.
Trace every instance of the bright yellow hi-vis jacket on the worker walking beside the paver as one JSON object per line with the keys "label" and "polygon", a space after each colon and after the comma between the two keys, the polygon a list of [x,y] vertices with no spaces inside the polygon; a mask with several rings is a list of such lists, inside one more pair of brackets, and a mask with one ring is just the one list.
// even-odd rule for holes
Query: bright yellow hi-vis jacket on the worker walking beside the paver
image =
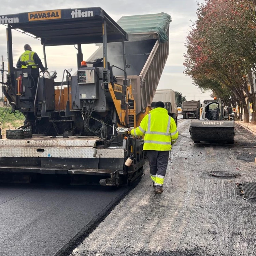
{"label": "bright yellow hi-vis jacket on the worker walking beside the paver", "polygon": [[132,136],[144,136],[143,150],[170,151],[178,139],[176,123],[166,109],[156,108],[146,115],[140,126],[131,130]]}

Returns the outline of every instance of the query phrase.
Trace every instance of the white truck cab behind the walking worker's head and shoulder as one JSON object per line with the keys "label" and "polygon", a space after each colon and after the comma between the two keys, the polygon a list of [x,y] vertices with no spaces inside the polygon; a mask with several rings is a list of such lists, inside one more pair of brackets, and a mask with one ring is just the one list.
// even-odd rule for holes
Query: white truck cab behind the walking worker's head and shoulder
{"label": "white truck cab behind the walking worker's head and shoulder", "polygon": [[[165,108],[168,114],[175,120],[176,125],[178,124],[178,109],[177,109],[177,97],[176,92],[172,89],[168,90],[156,90],[155,96],[151,103],[151,108],[155,107],[156,102],[162,101],[165,103]],[[181,100],[181,94],[178,95],[179,100]]]}

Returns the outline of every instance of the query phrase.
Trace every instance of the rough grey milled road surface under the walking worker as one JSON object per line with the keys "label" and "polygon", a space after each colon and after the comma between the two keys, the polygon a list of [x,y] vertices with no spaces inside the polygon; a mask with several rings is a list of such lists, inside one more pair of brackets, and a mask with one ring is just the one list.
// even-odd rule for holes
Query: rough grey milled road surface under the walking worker
{"label": "rough grey milled road surface under the walking worker", "polygon": [[[164,193],[154,194],[147,166],[146,176],[72,256],[255,255],[256,201],[238,184],[256,182],[256,138],[236,125],[234,145],[194,144],[189,123],[178,122]],[[238,175],[214,177],[211,171]]]}

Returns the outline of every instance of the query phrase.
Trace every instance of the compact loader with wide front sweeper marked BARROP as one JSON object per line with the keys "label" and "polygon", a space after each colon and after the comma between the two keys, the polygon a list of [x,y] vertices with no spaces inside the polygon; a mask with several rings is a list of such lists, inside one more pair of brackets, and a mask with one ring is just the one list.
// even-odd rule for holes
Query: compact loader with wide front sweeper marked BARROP
{"label": "compact loader with wide front sweeper marked BARROP", "polygon": [[189,127],[194,143],[234,143],[234,121],[224,115],[224,107],[221,99],[204,100],[200,120],[191,120]]}

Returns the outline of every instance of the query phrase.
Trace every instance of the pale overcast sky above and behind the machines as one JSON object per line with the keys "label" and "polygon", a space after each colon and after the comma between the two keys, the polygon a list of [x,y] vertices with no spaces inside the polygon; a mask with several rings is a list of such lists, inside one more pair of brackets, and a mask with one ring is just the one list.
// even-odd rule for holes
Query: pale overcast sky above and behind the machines
{"label": "pale overcast sky above and behind the machines", "polygon": [[[201,2],[201,0],[198,0]],[[55,0],[55,1],[27,1],[18,0],[0,0],[0,15],[14,14],[30,11],[43,11],[65,8],[86,8],[100,6],[114,20],[118,20],[126,15],[139,15],[165,12],[171,15],[172,22],[170,25],[170,52],[169,57],[161,76],[158,89],[173,89],[180,91],[187,100],[203,101],[209,98],[210,93],[201,94],[193,84],[192,80],[183,74],[183,53],[185,52],[185,38],[190,29],[190,19],[196,19],[196,0]],[[13,31],[13,60],[14,66],[20,54],[23,53],[23,45],[28,43],[32,50],[37,52],[43,62],[42,45],[39,40]],[[7,49],[6,49],[6,27],[0,25],[0,55],[4,56],[7,66]],[[84,59],[89,58],[97,49],[95,45],[83,45],[82,51]],[[64,69],[73,68],[76,70],[76,49],[74,46],[46,47],[47,66],[49,71],[57,70],[58,81],[62,78]],[[44,63],[44,62],[43,62]],[[73,73],[72,71],[72,73]]]}

